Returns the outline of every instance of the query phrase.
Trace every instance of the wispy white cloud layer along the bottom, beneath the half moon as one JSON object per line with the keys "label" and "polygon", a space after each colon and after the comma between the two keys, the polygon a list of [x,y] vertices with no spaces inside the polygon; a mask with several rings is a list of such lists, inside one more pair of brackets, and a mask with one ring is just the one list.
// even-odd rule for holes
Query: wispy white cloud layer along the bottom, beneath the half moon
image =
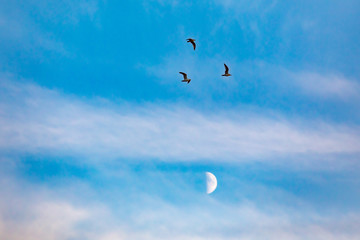
{"label": "wispy white cloud layer along the bottom, beneath the half moon", "polygon": [[[189,202],[176,204],[146,195],[136,186],[131,193],[135,194],[134,199],[116,191],[102,197],[94,194],[99,191],[88,183],[66,181],[73,188],[67,184],[44,187],[1,176],[0,194],[4,197],[0,198],[0,237],[355,240],[360,236],[356,212],[320,214],[305,204],[285,207],[271,200],[266,206],[248,200],[227,203],[219,197],[188,191],[183,197]],[[180,186],[172,187],[171,192],[176,191],[180,191]],[[269,189],[270,196],[274,192]],[[114,206],[109,199],[121,204]]]}

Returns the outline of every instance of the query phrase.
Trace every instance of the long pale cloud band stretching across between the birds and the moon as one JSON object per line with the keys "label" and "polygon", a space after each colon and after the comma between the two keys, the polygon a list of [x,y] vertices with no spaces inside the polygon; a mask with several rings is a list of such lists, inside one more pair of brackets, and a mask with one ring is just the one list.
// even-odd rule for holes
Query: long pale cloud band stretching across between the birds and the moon
{"label": "long pale cloud band stretching across between the birds and the moon", "polygon": [[358,154],[358,126],[177,104],[85,101],[3,78],[0,149],[88,157],[242,161]]}

